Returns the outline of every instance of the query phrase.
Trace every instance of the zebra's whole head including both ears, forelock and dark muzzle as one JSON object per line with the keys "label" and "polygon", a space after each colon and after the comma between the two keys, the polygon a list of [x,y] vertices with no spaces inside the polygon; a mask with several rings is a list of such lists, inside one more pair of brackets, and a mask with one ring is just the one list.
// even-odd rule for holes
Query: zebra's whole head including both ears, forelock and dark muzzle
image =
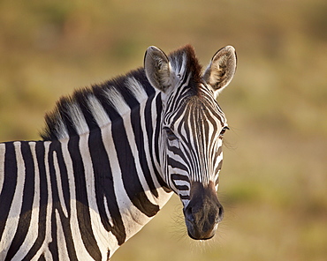
{"label": "zebra's whole head including both ears, forelock and dark muzzle", "polygon": [[144,67],[162,99],[159,155],[164,181],[184,205],[188,235],[209,239],[224,215],[217,187],[228,126],[216,98],[236,70],[235,49],[217,51],[202,73],[190,46],[170,56],[149,47]]}

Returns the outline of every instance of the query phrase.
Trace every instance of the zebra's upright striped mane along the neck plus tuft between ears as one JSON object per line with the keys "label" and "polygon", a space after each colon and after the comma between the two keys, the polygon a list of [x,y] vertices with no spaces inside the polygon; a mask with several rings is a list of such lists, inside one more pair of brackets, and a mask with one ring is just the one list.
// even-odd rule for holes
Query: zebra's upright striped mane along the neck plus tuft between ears
{"label": "zebra's upright striped mane along the neck plus tuft between ears", "polygon": [[[195,57],[194,48],[186,45],[168,57],[172,70],[180,71],[184,67],[186,73],[191,73],[190,91],[197,94],[196,83],[201,80],[202,67]],[[83,135],[121,118],[155,93],[143,68],[100,85],[79,89],[57,101],[54,110],[46,114],[45,127],[40,135],[43,140]]]}

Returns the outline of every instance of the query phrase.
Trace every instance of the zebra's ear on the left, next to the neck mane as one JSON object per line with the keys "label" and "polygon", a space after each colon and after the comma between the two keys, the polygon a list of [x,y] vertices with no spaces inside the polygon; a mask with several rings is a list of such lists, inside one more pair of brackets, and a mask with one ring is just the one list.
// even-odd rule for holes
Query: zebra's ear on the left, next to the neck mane
{"label": "zebra's ear on the left, next to the neck mane", "polygon": [[166,93],[171,86],[169,59],[164,52],[150,46],[144,56],[144,70],[151,86]]}

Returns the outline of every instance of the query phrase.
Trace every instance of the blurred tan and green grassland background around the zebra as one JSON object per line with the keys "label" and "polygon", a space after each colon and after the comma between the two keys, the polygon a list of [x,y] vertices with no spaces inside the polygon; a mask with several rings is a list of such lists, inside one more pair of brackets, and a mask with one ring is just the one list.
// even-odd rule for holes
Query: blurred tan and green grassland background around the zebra
{"label": "blurred tan and green grassland background around the zebra", "polygon": [[2,0],[0,140],[38,139],[61,95],[141,66],[150,45],[191,43],[206,66],[232,44],[218,234],[188,239],[173,197],[112,260],[326,260],[326,14],[323,0]]}

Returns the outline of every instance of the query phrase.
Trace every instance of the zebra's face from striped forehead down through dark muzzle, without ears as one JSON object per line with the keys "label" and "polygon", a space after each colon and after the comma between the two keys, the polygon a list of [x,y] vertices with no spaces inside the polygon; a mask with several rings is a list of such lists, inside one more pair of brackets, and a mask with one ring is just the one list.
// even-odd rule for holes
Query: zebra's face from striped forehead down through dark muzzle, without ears
{"label": "zebra's face from striped forehead down through dark muzzle, without ears", "polygon": [[228,127],[212,93],[204,85],[199,87],[201,95],[178,99],[175,111],[168,108],[177,101],[167,101],[162,161],[165,180],[184,205],[188,234],[194,239],[209,239],[224,214],[217,187],[223,161],[222,139]]}

